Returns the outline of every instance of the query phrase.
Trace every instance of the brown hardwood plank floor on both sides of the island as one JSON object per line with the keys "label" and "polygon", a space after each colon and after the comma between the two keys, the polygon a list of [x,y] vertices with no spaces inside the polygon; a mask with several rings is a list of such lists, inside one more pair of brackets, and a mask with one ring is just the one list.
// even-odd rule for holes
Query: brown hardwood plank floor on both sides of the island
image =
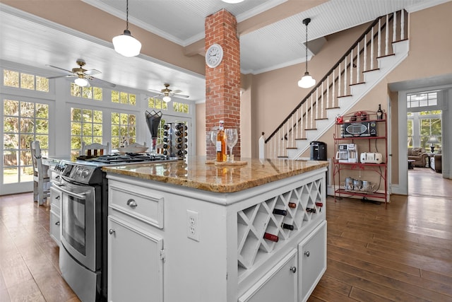
{"label": "brown hardwood plank floor on both sides of the island", "polygon": [[[417,169],[388,209],[328,197],[328,267],[309,301],[452,301],[452,180]],[[49,206],[31,193],[0,196],[0,272],[1,302],[79,301],[59,272]]]}

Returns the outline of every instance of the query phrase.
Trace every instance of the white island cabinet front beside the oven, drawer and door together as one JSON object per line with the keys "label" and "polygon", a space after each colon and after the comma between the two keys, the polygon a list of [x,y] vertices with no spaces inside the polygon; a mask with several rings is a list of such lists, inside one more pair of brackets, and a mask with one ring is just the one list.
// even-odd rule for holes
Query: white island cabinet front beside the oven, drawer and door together
{"label": "white island cabinet front beside the oven, drawer and door together", "polygon": [[163,301],[162,209],[142,187],[109,185],[108,301]]}

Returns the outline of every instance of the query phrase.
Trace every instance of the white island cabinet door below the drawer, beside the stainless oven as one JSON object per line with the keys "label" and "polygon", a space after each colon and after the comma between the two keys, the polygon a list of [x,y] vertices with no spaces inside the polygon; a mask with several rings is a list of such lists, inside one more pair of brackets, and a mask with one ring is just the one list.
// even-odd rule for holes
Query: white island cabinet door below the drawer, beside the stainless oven
{"label": "white island cabinet door below the drawer, beside the stainless oven", "polygon": [[163,301],[163,239],[108,217],[108,301]]}

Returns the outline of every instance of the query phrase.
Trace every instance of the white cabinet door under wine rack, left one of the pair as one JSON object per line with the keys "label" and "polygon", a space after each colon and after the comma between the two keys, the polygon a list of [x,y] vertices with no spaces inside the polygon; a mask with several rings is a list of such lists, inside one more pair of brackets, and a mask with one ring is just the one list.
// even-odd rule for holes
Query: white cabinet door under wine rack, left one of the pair
{"label": "white cabinet door under wine rack, left one of the pair", "polygon": [[297,301],[297,250],[292,250],[275,265],[239,302]]}

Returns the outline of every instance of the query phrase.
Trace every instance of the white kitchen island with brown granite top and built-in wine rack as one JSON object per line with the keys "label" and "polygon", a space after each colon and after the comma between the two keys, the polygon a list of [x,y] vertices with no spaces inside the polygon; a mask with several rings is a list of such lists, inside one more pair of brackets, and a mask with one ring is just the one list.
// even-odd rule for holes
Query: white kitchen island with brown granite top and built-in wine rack
{"label": "white kitchen island with brown granite top and built-in wine rack", "polygon": [[326,161],[105,166],[108,301],[306,301],[326,269]]}

